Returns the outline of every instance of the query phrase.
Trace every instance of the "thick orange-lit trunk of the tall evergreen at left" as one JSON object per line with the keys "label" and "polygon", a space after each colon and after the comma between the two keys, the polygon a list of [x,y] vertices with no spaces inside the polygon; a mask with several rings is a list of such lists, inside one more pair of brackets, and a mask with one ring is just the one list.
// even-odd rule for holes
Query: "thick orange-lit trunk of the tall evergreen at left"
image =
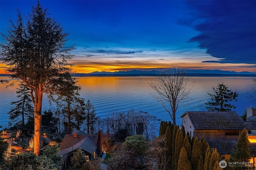
{"label": "thick orange-lit trunk of the tall evergreen at left", "polygon": [[[41,134],[42,134],[42,97],[43,93],[38,87],[35,89],[34,98],[34,154],[40,156],[41,150]],[[32,99],[33,100],[33,99]]]}

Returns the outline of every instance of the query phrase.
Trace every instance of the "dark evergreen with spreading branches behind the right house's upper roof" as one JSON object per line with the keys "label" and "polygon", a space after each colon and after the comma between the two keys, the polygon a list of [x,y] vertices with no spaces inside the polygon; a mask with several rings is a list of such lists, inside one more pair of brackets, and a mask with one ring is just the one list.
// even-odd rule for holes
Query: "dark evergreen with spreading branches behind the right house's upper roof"
{"label": "dark evergreen with spreading branches behind the right house's upper roof", "polygon": [[205,103],[208,111],[231,111],[232,108],[236,108],[230,104],[233,100],[237,101],[238,94],[236,92],[229,90],[224,83],[218,83],[218,87],[212,87],[212,89],[215,94],[208,93],[212,102]]}

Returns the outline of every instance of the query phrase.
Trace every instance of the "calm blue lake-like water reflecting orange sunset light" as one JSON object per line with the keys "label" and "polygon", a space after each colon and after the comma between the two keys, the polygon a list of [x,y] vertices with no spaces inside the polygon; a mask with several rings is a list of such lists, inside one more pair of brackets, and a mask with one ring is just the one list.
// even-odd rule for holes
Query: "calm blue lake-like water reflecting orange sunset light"
{"label": "calm blue lake-like water reflecting orange sunset light", "polygon": [[[6,79],[7,77],[0,77]],[[170,116],[150,95],[154,93],[148,83],[154,81],[154,77],[79,77],[78,85],[82,87],[80,97],[90,100],[96,109],[99,117],[105,117],[112,111],[145,111],[156,116],[163,121],[170,121]],[[192,77],[191,84],[194,86],[194,92],[190,95],[192,100],[180,108],[176,113],[176,123],[181,125],[180,115],[185,111],[207,111],[205,102],[210,100],[208,93],[213,93],[212,87],[218,83],[224,82],[232,91],[238,92],[238,101],[236,111],[242,115],[246,107],[255,103],[248,101],[248,94],[252,85],[251,77]],[[16,101],[16,88],[5,88],[0,84],[0,125],[8,126],[8,111],[10,103]],[[55,109],[55,106],[49,106],[48,100],[43,99],[43,111]]]}

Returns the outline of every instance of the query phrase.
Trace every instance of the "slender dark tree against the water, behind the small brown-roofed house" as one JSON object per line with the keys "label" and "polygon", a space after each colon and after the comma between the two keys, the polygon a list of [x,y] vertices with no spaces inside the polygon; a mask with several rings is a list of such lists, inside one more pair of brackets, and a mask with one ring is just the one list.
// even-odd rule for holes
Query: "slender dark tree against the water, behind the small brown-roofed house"
{"label": "slender dark tree against the water, behind the small brown-roofed house", "polygon": [[[94,109],[94,106],[92,105],[92,103],[90,102],[90,100],[88,100],[85,104],[85,117],[86,117],[86,125],[87,125],[87,133],[93,133],[94,131],[94,123],[97,121],[97,117],[96,117],[96,110]],[[90,133],[89,133],[90,132]]]}

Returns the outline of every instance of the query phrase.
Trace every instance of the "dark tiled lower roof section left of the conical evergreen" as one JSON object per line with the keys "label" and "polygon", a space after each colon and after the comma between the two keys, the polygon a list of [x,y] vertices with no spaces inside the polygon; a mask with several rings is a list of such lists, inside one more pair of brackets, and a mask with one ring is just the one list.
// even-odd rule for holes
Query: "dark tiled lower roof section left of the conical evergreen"
{"label": "dark tiled lower roof section left of the conical evergreen", "polygon": [[210,148],[217,148],[220,154],[231,154],[236,149],[236,140],[206,140]]}

